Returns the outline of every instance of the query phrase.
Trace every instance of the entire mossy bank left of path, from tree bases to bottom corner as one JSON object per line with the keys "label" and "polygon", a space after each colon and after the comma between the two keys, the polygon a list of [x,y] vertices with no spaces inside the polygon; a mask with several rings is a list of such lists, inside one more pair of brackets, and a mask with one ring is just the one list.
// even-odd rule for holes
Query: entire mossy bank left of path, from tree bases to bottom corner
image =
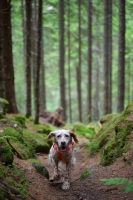
{"label": "entire mossy bank left of path, from tree bases to bottom corner", "polygon": [[51,140],[46,137],[54,130],[49,124],[34,125],[24,116],[5,116],[0,119],[0,199],[17,199],[26,194],[23,172],[14,164],[14,155],[30,159],[37,171],[48,178],[45,166],[36,159],[36,152],[48,153]]}

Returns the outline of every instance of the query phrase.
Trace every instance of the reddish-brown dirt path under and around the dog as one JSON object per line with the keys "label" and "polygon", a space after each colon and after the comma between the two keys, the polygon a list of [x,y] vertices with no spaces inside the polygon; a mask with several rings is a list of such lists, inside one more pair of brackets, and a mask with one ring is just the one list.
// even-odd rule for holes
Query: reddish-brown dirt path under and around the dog
{"label": "reddish-brown dirt path under and around the dog", "polygon": [[[100,178],[126,177],[133,180],[133,165],[127,165],[121,158],[114,164],[104,167],[99,165],[100,154],[91,156],[83,149],[83,139],[75,147],[76,165],[72,171],[71,187],[64,191],[60,183],[51,184],[40,175],[27,160],[15,158],[15,163],[24,170],[30,181],[26,200],[133,200],[133,192],[125,193],[121,185],[107,186]],[[38,160],[52,175],[53,167],[47,163],[47,154],[37,154]],[[90,178],[81,179],[85,168],[91,168]]]}

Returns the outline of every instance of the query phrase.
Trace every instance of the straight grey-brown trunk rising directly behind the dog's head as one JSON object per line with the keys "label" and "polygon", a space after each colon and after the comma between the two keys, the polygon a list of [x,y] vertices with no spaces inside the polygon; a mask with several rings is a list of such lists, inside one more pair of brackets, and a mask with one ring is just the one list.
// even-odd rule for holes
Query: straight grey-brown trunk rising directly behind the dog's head
{"label": "straight grey-brown trunk rising directly behind the dog's head", "polygon": [[60,73],[60,104],[64,109],[63,119],[66,120],[65,90],[65,48],[64,48],[64,0],[59,0],[59,73]]}

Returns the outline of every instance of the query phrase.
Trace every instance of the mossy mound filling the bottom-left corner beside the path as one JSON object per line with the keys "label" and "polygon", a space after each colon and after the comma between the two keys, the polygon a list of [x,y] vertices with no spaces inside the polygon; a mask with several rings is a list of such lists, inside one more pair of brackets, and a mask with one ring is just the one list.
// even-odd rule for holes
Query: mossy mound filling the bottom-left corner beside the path
{"label": "mossy mound filling the bottom-left corner beside the path", "polygon": [[27,193],[30,184],[24,176],[24,172],[15,164],[0,164],[0,199],[16,199]]}

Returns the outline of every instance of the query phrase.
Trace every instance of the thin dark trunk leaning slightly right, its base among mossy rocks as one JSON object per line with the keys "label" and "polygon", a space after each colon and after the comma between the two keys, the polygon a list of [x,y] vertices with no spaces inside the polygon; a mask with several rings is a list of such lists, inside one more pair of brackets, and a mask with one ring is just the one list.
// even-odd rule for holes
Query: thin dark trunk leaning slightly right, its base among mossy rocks
{"label": "thin dark trunk leaning slightly right, its base among mossy rocks", "polygon": [[38,41],[37,41],[37,67],[35,77],[35,124],[39,123],[39,109],[40,109],[40,68],[41,68],[41,41],[42,41],[42,9],[43,1],[39,0],[38,8]]}

